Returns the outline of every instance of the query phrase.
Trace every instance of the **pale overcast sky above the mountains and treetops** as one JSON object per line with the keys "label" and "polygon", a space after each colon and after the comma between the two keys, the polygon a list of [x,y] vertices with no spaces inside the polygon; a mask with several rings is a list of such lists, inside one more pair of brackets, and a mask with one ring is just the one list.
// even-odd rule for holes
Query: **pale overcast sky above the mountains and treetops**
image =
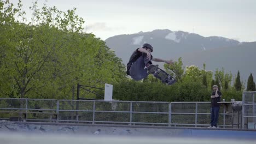
{"label": "pale overcast sky above the mountains and treetops", "polygon": [[[21,1],[30,17],[28,7],[35,0]],[[44,2],[38,0],[40,5]],[[77,8],[77,14],[85,20],[85,31],[102,40],[118,34],[170,29],[256,41],[254,0],[49,0],[46,4],[64,11]]]}

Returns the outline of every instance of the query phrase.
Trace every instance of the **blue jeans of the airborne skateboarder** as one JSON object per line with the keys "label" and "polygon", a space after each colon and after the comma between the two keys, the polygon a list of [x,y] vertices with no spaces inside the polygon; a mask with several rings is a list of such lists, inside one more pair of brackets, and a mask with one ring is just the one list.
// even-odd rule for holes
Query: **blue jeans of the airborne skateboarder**
{"label": "blue jeans of the airborne skateboarder", "polygon": [[141,57],[137,59],[136,62],[132,63],[130,68],[130,75],[133,80],[139,81],[148,76],[148,69],[145,68],[146,64],[150,62],[151,59],[147,58],[146,53],[143,53]]}

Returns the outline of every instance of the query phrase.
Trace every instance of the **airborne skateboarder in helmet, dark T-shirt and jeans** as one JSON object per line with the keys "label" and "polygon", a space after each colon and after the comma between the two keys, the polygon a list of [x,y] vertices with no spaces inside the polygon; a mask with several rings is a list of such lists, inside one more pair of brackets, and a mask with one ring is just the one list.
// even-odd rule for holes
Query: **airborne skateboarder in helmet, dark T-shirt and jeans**
{"label": "airborne skateboarder in helmet, dark T-shirt and jeans", "polygon": [[[149,75],[149,72],[148,72],[149,65],[152,65],[155,67],[155,65],[152,64],[152,61],[173,64],[172,60],[167,61],[167,60],[163,60],[160,58],[154,58],[151,55],[152,52],[153,52],[153,46],[150,44],[147,44],[147,43],[143,44],[143,46],[141,48],[136,49],[132,53],[129,62],[127,63],[126,74],[130,75],[133,80],[139,81],[139,80],[146,78]],[[160,69],[160,68],[158,68],[158,69]],[[161,70],[161,73],[168,75],[163,70]],[[157,76],[155,76],[155,77],[157,77]]]}

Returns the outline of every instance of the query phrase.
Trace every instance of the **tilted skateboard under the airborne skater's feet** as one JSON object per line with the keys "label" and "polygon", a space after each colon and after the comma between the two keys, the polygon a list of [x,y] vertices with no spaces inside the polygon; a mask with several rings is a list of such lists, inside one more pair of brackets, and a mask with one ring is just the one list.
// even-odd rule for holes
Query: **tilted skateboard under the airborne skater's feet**
{"label": "tilted skateboard under the airborne skater's feet", "polygon": [[154,75],[166,85],[173,85],[176,82],[176,79],[173,76],[153,64],[148,66],[148,73]]}

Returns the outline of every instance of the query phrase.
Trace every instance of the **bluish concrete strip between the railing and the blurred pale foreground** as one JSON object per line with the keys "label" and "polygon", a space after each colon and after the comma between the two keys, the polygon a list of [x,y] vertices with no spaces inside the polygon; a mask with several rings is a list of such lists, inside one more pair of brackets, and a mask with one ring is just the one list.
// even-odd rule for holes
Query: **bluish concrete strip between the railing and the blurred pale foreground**
{"label": "bluish concrete strip between the railing and the blurred pale foreground", "polygon": [[6,133],[38,135],[72,136],[135,136],[135,137],[171,137],[182,139],[229,139],[256,140],[255,130],[207,129],[175,127],[136,127],[124,125],[86,125],[55,123],[0,123],[0,135]]}

